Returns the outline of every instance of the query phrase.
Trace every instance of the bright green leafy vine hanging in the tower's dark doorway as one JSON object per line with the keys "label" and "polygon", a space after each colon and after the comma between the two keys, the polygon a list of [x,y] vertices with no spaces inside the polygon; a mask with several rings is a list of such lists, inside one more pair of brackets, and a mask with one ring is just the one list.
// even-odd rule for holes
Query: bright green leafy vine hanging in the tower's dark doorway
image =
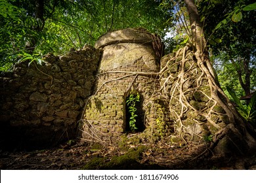
{"label": "bright green leafy vine hanging in the tower's dark doorway", "polygon": [[136,114],[137,108],[135,107],[136,103],[140,101],[140,95],[137,92],[136,94],[131,93],[129,97],[127,97],[126,104],[130,113],[129,118],[129,127],[132,132],[135,132],[136,129],[136,117],[138,116]]}

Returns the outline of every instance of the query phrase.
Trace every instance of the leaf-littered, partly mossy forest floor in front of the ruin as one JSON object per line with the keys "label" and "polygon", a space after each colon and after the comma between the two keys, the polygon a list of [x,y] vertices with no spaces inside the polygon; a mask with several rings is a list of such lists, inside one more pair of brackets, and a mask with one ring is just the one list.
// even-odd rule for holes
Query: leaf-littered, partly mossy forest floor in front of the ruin
{"label": "leaf-littered, partly mossy forest floor in front of the ruin", "polygon": [[196,154],[197,146],[131,146],[121,151],[114,146],[93,148],[82,142],[32,151],[0,151],[0,169],[256,169],[256,156],[230,157]]}

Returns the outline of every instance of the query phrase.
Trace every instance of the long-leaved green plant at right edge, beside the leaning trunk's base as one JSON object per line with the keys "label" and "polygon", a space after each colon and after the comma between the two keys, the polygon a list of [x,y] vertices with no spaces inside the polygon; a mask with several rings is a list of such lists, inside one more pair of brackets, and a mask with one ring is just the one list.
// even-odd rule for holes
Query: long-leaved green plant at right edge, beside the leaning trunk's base
{"label": "long-leaved green plant at right edge, beside the leaning trunk's base", "polygon": [[243,105],[240,101],[240,99],[236,96],[236,93],[232,91],[231,88],[226,88],[228,90],[228,93],[230,93],[232,99],[234,99],[234,102],[236,105],[238,105],[237,109],[238,112],[241,114],[241,116],[245,119],[246,122],[256,122],[256,92],[251,97],[251,101],[249,105]]}

